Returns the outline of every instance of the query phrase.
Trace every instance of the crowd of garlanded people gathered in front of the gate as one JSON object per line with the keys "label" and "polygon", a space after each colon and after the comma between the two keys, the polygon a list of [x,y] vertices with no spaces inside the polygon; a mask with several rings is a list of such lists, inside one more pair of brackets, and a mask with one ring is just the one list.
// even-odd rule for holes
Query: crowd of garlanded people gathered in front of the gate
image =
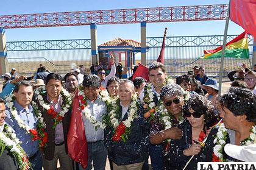
{"label": "crowd of garlanded people gathered in front of the gate", "polygon": [[[0,99],[0,169],[54,170],[59,161],[61,169],[98,170],[105,169],[107,158],[114,170],[149,169],[149,158],[154,170],[250,161],[228,147],[256,150],[255,71],[247,68],[244,79],[233,79],[218,97],[218,82],[206,76],[204,66],[175,81],[162,63],[153,62],[146,82],[115,77],[114,61],[111,57],[108,76],[104,68],[97,74],[77,68],[62,77],[40,66],[34,84],[25,76],[6,80]],[[86,165],[68,152],[73,114],[82,115]]]}

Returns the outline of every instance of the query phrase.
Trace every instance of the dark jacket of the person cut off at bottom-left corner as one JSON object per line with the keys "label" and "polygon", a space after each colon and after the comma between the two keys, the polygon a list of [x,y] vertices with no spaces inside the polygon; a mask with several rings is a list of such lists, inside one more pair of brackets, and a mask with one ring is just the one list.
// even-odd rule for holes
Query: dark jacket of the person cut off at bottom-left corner
{"label": "dark jacket of the person cut off at bottom-left corner", "polygon": [[0,156],[0,170],[16,170],[18,169],[18,164],[15,158],[10,155],[10,152],[4,150]]}

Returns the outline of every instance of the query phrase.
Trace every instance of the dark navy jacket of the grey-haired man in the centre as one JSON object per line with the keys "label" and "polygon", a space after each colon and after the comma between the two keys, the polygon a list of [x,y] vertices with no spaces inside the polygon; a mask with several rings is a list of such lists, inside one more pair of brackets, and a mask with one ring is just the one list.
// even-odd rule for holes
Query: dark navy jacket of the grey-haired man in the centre
{"label": "dark navy jacket of the grey-haired man in the centre", "polygon": [[[149,124],[143,117],[143,105],[138,105],[138,118],[133,119],[130,134],[125,143],[123,140],[112,141],[112,136],[115,132],[113,127],[105,128],[105,147],[108,151],[108,158],[116,165],[140,163],[144,161],[148,155]],[[119,119],[121,119],[121,114]],[[127,114],[124,115],[122,121],[126,119]]]}

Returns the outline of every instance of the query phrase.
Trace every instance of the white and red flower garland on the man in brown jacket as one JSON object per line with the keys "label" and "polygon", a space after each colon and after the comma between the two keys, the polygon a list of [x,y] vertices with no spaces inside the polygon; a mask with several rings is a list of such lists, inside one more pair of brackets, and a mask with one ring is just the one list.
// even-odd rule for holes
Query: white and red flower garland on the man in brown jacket
{"label": "white and red flower garland on the man in brown jacket", "polygon": [[[46,123],[44,122],[43,119],[43,115],[42,112],[48,113],[49,115],[52,116],[52,119],[54,120],[54,126],[52,127],[52,129],[55,129],[55,127],[57,126],[57,124],[59,124],[60,122],[62,122],[62,119],[64,118],[65,114],[68,112],[69,109],[71,109],[71,105],[72,105],[72,97],[71,95],[68,93],[68,91],[65,90],[65,88],[62,87],[62,90],[60,91],[60,95],[62,95],[62,111],[60,111],[59,113],[55,112],[54,108],[52,106],[50,106],[49,104],[46,104],[46,102],[44,101],[43,96],[46,95],[46,89],[45,87],[40,87],[37,88],[37,90],[35,90],[35,101],[32,101],[31,104],[34,108],[34,112],[35,112],[35,116],[37,116],[38,118],[38,123],[37,123],[37,132],[34,131],[34,133],[37,135],[37,138],[40,141],[40,146],[46,146],[46,143],[48,141],[48,133],[45,132],[46,129]],[[38,108],[38,104],[41,105],[41,107],[43,107],[43,110],[40,110]]]}

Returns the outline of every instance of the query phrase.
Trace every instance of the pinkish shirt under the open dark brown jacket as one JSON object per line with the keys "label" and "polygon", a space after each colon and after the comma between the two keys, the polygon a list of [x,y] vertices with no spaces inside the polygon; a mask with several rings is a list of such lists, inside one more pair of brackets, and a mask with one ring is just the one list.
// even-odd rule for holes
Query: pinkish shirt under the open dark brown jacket
{"label": "pinkish shirt under the open dark brown jacket", "polygon": [[[58,102],[56,104],[53,104],[51,99],[47,95],[47,100],[50,103],[50,105],[54,108],[55,112],[59,113],[62,111],[62,97],[59,96]],[[62,143],[64,141],[64,133],[63,133],[63,125],[62,122],[57,124],[55,127],[55,144]]]}

